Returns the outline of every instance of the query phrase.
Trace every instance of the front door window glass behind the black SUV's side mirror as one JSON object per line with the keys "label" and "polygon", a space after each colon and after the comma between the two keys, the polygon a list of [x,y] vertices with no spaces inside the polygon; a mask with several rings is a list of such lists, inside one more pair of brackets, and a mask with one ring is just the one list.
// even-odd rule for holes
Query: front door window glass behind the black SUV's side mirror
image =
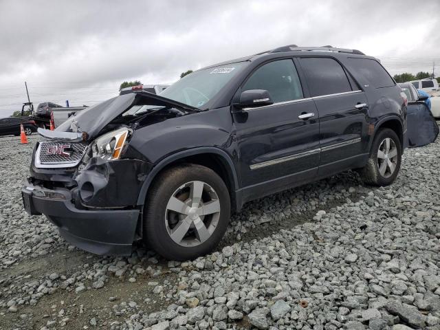
{"label": "front door window glass behind the black SUV's side mirror", "polygon": [[303,89],[292,59],[270,62],[256,69],[241,90],[250,89],[269,91],[274,103],[303,98]]}

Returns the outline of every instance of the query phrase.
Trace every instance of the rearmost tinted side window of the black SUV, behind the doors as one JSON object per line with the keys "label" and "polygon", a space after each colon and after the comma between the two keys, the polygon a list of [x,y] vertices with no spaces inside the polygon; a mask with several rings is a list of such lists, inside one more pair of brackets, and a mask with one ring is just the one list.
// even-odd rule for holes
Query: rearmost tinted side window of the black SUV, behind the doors
{"label": "rearmost tinted side window of the black SUV, behind the doors", "polygon": [[369,58],[347,58],[348,65],[353,71],[364,76],[375,88],[394,86],[393,78],[379,62]]}

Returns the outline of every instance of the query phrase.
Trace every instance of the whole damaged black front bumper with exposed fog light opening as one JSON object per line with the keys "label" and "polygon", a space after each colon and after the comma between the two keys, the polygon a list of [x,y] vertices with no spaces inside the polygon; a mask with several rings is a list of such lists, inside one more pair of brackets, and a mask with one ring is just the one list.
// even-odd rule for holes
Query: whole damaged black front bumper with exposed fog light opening
{"label": "whole damaged black front bumper with exposed fog light opening", "polygon": [[[47,170],[32,168],[22,188],[29,214],[44,214],[66,241],[101,255],[128,255],[140,238],[137,197],[149,170],[137,159],[91,159],[72,181],[47,179]],[[58,179],[61,175],[57,174]],[[72,173],[66,177],[72,178]]]}

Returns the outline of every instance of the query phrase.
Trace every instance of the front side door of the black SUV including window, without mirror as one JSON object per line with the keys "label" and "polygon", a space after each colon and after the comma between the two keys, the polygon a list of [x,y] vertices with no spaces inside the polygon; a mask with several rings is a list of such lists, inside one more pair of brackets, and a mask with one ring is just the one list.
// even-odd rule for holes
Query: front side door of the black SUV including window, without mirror
{"label": "front side door of the black SUV including window, without mirror", "polygon": [[241,91],[265,89],[274,104],[234,114],[244,201],[269,195],[318,173],[318,111],[305,98],[292,58],[258,67]]}

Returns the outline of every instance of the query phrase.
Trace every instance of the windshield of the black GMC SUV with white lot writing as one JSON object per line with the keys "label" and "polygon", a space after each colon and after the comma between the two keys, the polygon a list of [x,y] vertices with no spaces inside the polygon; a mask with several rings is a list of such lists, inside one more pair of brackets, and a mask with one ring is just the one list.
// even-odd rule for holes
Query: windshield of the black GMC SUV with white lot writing
{"label": "windshield of the black GMC SUV with white lot writing", "polygon": [[192,72],[159,95],[199,108],[208,103],[245,64],[230,63]]}

